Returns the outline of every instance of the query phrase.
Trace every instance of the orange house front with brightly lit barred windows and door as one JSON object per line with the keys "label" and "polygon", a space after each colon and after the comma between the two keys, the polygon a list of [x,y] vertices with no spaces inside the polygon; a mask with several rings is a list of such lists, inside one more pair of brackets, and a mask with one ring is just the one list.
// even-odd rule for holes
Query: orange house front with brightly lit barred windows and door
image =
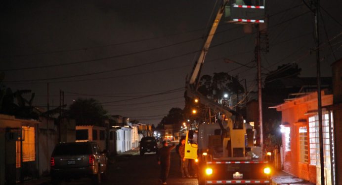
{"label": "orange house front with brightly lit barred windows and door", "polygon": [[[333,94],[322,91],[324,171],[327,185],[334,182],[333,112],[324,108],[333,104]],[[282,113],[282,150],[285,172],[320,184],[320,151],[317,92],[275,106]]]}

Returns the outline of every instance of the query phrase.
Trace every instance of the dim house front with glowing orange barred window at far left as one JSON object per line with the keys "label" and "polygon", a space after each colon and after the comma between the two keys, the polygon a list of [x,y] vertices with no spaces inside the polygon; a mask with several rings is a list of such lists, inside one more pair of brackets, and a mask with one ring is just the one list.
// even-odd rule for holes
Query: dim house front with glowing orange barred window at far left
{"label": "dim house front with glowing orange barred window at far left", "polygon": [[0,114],[0,185],[39,176],[39,123]]}

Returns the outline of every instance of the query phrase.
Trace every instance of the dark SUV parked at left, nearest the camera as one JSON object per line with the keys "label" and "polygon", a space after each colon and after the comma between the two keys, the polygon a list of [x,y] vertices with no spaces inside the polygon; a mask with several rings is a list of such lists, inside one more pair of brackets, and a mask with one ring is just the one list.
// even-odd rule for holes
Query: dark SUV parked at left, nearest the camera
{"label": "dark SUV parked at left, nearest the camera", "polygon": [[95,142],[57,144],[51,155],[51,183],[89,177],[93,184],[101,183],[107,171],[107,156]]}

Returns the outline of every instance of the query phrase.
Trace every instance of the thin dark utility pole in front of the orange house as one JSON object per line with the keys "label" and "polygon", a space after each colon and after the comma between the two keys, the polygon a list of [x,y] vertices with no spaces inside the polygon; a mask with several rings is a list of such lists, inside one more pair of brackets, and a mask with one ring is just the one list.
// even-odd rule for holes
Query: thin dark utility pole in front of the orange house
{"label": "thin dark utility pole in front of the orange house", "polygon": [[324,180],[324,151],[323,151],[323,123],[322,123],[322,97],[321,97],[321,64],[319,57],[319,0],[315,2],[315,39],[316,39],[316,67],[317,67],[317,102],[318,102],[318,127],[319,127],[319,158],[321,165],[321,185],[325,185]]}

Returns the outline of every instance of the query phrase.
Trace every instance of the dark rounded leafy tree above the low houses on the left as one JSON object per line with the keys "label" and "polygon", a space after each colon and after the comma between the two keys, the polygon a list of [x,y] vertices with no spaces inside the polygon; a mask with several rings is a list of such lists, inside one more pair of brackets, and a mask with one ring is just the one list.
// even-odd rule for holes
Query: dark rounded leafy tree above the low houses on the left
{"label": "dark rounded leafy tree above the low houses on the left", "polygon": [[66,117],[75,119],[76,124],[102,125],[104,119],[108,119],[107,111],[100,102],[93,98],[79,98],[70,105]]}

